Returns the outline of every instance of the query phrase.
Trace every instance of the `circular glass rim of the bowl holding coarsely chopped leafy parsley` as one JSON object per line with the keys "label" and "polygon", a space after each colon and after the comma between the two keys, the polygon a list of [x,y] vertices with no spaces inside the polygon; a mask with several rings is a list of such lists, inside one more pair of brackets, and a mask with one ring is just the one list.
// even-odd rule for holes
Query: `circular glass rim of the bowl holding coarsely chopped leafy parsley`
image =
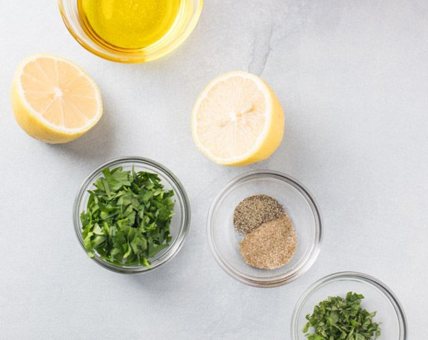
{"label": "circular glass rim of the bowl holding coarsely chopped leafy parsley", "polygon": [[[83,237],[81,233],[81,222],[80,222],[80,211],[79,206],[83,199],[83,197],[87,194],[87,188],[93,184],[93,181],[95,177],[97,177],[101,171],[107,167],[111,166],[120,166],[122,163],[125,162],[132,162],[132,163],[139,163],[142,165],[148,165],[154,167],[156,170],[156,173],[162,174],[163,176],[167,177],[169,180],[171,180],[175,186],[177,186],[178,192],[175,192],[175,195],[177,195],[177,199],[181,200],[183,203],[181,213],[183,215],[182,217],[182,223],[180,225],[180,229],[178,231],[177,237],[171,242],[168,248],[166,248],[165,253],[162,255],[164,258],[150,266],[150,268],[147,268],[143,265],[141,266],[117,266],[113,263],[108,262],[107,260],[103,260],[98,256],[92,257],[92,260],[94,260],[96,263],[98,263],[100,266],[109,269],[113,272],[120,272],[125,274],[134,274],[134,273],[143,273],[143,272],[150,272],[154,269],[157,269],[161,265],[169,262],[172,260],[172,258],[178,254],[178,251],[180,251],[181,247],[184,244],[184,240],[186,238],[186,235],[190,228],[190,202],[189,198],[187,197],[187,193],[184,190],[183,185],[181,184],[180,180],[175,176],[175,174],[172,173],[168,168],[163,166],[162,164],[151,160],[146,157],[139,157],[139,156],[125,156],[125,157],[118,157],[114,158],[112,160],[109,160],[107,162],[102,163],[100,166],[97,166],[94,170],[92,170],[88,176],[86,176],[85,180],[83,180],[82,184],[80,184],[79,189],[77,190],[76,197],[74,199],[74,206],[73,206],[73,224],[74,224],[74,232],[76,234],[76,237],[80,243],[80,246],[82,247],[83,251],[85,251],[85,254],[87,254],[86,249],[83,246]],[[181,207],[181,204],[180,204]]]}

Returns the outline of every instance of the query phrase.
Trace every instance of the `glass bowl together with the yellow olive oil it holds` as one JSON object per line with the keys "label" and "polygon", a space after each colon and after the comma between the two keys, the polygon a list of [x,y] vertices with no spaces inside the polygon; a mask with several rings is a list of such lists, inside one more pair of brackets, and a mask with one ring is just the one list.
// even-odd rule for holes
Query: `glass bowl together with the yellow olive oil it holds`
{"label": "glass bowl together with the yellow olive oil it holds", "polygon": [[68,31],[87,50],[116,62],[147,62],[192,32],[203,0],[58,0]]}

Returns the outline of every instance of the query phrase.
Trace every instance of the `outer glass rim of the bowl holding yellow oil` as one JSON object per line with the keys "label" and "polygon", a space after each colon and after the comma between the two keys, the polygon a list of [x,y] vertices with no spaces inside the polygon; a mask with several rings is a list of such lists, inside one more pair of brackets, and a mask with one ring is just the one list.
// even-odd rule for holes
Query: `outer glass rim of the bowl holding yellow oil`
{"label": "outer glass rim of the bowl holding yellow oil", "polygon": [[[127,53],[126,49],[119,49],[116,51],[117,53],[112,53],[111,51],[106,50],[104,47],[98,46],[99,50],[95,47],[92,47],[90,43],[86,41],[87,37],[82,38],[74,29],[73,24],[73,18],[71,18],[71,15],[68,11],[67,5],[68,2],[71,0],[57,0],[57,5],[59,12],[61,14],[62,21],[65,24],[65,27],[67,28],[68,32],[71,34],[71,36],[76,40],[84,49],[88,50],[92,54],[99,56],[103,59],[110,60],[113,62],[121,62],[121,63],[140,63],[140,62],[149,62],[154,59],[158,59],[168,53],[170,53],[172,50],[175,50],[178,46],[180,46],[184,40],[187,39],[187,37],[193,32],[194,28],[196,27],[196,24],[199,21],[202,7],[204,0],[191,0],[193,1],[193,6],[195,7],[195,11],[193,12],[193,15],[191,16],[189,22],[187,23],[187,26],[183,32],[183,34],[179,35],[178,38],[175,40],[169,41],[169,45],[165,45],[161,48],[158,48],[156,50],[152,51],[146,51],[146,54],[144,53]],[[87,38],[89,40],[89,38]],[[130,49],[131,50],[131,49]],[[144,50],[144,49],[140,49]]]}

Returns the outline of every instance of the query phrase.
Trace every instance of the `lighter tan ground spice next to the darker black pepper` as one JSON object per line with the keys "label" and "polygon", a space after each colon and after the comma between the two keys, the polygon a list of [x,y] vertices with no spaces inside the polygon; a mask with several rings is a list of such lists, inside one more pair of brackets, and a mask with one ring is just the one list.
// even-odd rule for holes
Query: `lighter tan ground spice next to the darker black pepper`
{"label": "lighter tan ground spice next to the darker black pepper", "polygon": [[297,246],[288,215],[263,223],[239,243],[245,262],[261,269],[276,269],[291,260]]}

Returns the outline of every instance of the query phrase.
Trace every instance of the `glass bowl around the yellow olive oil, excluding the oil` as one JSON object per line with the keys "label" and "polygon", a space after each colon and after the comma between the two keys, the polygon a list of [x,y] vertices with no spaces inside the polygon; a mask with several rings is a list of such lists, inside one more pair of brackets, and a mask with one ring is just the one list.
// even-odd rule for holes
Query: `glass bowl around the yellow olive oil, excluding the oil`
{"label": "glass bowl around the yellow olive oil, excluding the oil", "polygon": [[86,32],[77,9],[77,0],[58,0],[59,11],[68,31],[89,52],[115,62],[147,62],[160,58],[178,47],[193,31],[202,11],[203,0],[181,0],[172,28],[155,43],[135,49],[98,44]]}

